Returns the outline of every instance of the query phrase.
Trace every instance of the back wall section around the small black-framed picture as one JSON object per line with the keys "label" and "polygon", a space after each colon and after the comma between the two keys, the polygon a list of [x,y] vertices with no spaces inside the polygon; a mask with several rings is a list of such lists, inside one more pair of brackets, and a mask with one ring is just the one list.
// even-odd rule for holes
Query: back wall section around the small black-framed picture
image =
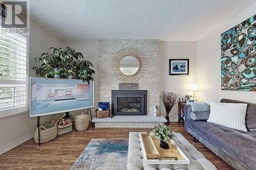
{"label": "back wall section around the small black-framed picture", "polygon": [[[169,59],[189,59],[189,76],[169,76]],[[160,42],[160,90],[175,92],[179,97],[192,94],[188,85],[197,79],[197,42]],[[166,115],[161,101],[161,114]],[[178,104],[170,111],[170,121],[177,121]]]}

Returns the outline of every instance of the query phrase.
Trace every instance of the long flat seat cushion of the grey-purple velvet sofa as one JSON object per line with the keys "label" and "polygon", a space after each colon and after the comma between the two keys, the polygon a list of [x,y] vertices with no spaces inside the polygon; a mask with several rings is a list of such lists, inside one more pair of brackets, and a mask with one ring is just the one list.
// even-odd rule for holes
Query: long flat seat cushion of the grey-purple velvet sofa
{"label": "long flat seat cushion of the grey-purple velvet sofa", "polygon": [[248,169],[256,164],[256,132],[238,131],[214,123],[188,120],[189,128]]}

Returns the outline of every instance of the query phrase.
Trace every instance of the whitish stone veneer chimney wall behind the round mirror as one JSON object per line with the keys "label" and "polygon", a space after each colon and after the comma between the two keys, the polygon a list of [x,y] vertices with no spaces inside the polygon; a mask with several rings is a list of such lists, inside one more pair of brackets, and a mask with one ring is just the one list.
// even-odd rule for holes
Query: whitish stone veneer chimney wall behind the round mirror
{"label": "whitish stone veneer chimney wall behind the round mirror", "polygon": [[[160,41],[159,40],[100,40],[99,41],[99,101],[111,103],[111,90],[118,90],[119,81],[112,72],[112,58],[124,47],[139,48],[147,58],[147,70],[140,79],[140,90],[147,90],[147,114],[160,105]],[[143,64],[143,63],[142,63]]]}

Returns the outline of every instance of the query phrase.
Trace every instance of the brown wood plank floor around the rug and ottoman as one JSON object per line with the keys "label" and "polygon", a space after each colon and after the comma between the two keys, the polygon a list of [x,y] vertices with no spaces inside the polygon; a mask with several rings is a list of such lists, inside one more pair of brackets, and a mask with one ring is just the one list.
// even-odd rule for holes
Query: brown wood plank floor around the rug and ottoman
{"label": "brown wood plank floor around the rug and ottoman", "polygon": [[[218,169],[233,169],[230,165],[208,150],[202,143],[193,141],[193,136],[184,130],[182,123],[171,123],[175,132],[182,133]],[[54,140],[42,143],[40,147],[30,139],[11,151],[0,155],[0,169],[70,169],[83,149],[93,138],[128,138],[129,132],[145,132],[151,129],[95,128],[57,136]]]}

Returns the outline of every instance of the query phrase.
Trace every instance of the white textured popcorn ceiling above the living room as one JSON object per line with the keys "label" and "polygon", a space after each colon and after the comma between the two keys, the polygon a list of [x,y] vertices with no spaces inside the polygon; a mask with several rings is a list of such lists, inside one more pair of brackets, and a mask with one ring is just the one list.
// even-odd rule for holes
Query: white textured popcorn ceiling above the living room
{"label": "white textured popcorn ceiling above the living room", "polygon": [[196,41],[256,0],[32,0],[31,19],[63,41]]}

